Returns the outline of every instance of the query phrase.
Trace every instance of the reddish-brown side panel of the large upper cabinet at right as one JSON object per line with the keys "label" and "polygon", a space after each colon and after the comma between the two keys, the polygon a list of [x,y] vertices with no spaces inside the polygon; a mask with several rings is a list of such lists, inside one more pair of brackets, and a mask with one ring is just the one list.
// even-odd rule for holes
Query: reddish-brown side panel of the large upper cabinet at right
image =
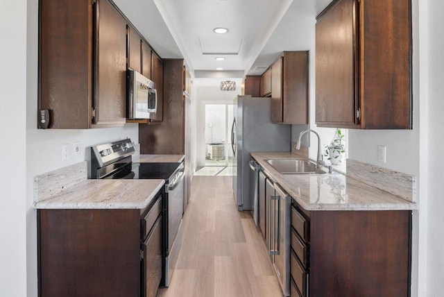
{"label": "reddish-brown side panel of the large upper cabinet at right", "polygon": [[359,2],[361,128],[411,128],[411,1]]}

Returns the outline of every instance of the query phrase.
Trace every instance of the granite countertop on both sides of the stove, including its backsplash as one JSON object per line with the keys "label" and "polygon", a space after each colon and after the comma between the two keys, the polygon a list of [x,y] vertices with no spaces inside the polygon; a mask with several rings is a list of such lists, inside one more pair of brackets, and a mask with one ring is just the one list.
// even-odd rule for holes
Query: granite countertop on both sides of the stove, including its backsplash
{"label": "granite countertop on both sides of the stove, including its backsplash", "polygon": [[[184,155],[133,155],[133,162],[182,162]],[[35,177],[37,209],[143,209],[164,180],[89,180],[83,161]]]}

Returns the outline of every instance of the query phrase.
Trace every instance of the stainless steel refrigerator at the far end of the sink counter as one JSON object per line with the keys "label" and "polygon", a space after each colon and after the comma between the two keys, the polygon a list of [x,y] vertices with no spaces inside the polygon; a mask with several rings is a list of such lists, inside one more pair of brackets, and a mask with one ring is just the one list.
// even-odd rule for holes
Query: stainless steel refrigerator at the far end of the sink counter
{"label": "stainless steel refrigerator at the far end of the sink counter", "polygon": [[238,210],[253,210],[257,223],[257,197],[250,189],[250,152],[291,151],[291,125],[271,122],[271,98],[237,96],[233,116],[234,198]]}

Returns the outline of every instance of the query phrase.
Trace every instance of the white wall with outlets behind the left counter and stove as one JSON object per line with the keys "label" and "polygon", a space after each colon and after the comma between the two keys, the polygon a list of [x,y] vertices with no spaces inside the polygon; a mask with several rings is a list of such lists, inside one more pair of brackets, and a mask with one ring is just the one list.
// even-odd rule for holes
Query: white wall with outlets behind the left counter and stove
{"label": "white wall with outlets behind the left counter and stove", "polygon": [[[8,1],[8,4],[9,3],[13,3],[13,1]],[[27,74],[26,114],[22,115],[22,119],[26,118],[26,176],[22,178],[22,180],[24,180],[22,189],[26,189],[26,198],[24,194],[22,199],[26,202],[26,208],[24,209],[22,216],[26,214],[27,241],[27,275],[23,278],[27,278],[27,296],[30,297],[37,296],[37,225],[36,211],[33,209],[34,177],[47,171],[88,160],[87,148],[94,144],[123,139],[126,137],[130,137],[136,143],[139,142],[137,124],[126,124],[126,126],[121,128],[100,128],[89,130],[37,130],[37,3],[37,0],[28,0],[27,69],[26,71],[19,71],[19,74],[17,75],[11,76],[20,77],[24,73]],[[14,15],[9,12],[9,10],[6,11],[8,15]],[[24,24],[26,24],[26,20],[24,20]],[[1,27],[8,28],[8,30],[13,28],[10,25]],[[15,34],[21,35],[22,33],[17,32]],[[22,81],[19,82],[17,90],[20,90],[20,87],[23,87]],[[18,108],[14,108],[14,110],[17,109]],[[25,109],[22,108],[19,110],[24,111]],[[17,122],[17,118],[15,122]],[[22,132],[20,135],[25,134]],[[71,159],[62,161],[62,144],[72,145],[74,142],[80,142],[80,155],[78,155],[78,158],[74,158],[71,151]],[[25,255],[25,253],[22,254],[22,257],[23,255]],[[12,295],[7,294],[4,296]]]}

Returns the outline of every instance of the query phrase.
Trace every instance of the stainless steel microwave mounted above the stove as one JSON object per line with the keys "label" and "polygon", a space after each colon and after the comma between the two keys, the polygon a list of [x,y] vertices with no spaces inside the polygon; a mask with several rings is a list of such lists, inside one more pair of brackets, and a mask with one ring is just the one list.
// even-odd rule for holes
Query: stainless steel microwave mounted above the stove
{"label": "stainless steel microwave mounted above the stove", "polygon": [[126,72],[128,119],[153,119],[157,111],[157,91],[153,80],[128,69]]}

